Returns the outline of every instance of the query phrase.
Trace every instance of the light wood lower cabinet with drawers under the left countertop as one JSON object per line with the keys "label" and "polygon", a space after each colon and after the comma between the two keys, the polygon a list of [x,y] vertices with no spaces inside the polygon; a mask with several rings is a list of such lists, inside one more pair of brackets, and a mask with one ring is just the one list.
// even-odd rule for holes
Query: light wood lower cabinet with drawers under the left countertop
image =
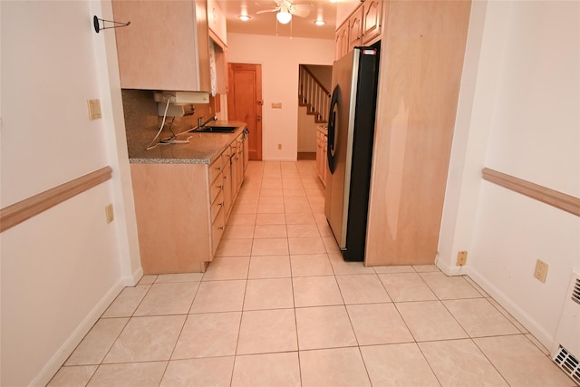
{"label": "light wood lower cabinet with drawers under the left countertop", "polygon": [[205,272],[244,179],[231,184],[231,152],[210,165],[131,164],[143,274]]}

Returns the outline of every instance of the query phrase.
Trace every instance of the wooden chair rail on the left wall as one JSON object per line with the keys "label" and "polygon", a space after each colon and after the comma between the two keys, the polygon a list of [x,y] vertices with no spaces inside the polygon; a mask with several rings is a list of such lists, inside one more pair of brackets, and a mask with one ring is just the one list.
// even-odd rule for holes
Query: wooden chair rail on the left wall
{"label": "wooden chair rail on the left wall", "polygon": [[73,198],[87,189],[101,184],[111,179],[111,167],[103,167],[80,178],[73,179],[69,182],[47,189],[30,198],[25,198],[11,206],[0,209],[0,232],[14,227],[24,220],[33,218],[41,212],[52,208],[64,200]]}

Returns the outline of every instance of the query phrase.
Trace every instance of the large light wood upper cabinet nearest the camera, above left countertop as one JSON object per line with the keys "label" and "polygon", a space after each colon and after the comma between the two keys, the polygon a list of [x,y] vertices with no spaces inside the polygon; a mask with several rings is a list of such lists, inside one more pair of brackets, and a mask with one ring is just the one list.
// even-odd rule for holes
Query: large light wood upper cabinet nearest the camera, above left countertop
{"label": "large light wood upper cabinet nearest the camera, above left countertop", "polygon": [[112,0],[121,88],[210,91],[207,3]]}

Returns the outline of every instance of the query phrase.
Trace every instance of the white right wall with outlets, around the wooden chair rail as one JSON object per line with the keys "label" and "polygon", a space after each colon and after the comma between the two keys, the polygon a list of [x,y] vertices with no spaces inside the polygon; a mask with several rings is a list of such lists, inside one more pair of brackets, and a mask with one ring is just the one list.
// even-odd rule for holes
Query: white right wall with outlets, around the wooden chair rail
{"label": "white right wall with outlets, around the wooden chair rail", "polygon": [[[580,218],[481,169],[580,196],[580,4],[474,2],[471,22],[438,265],[472,276],[550,348],[580,268]],[[460,270],[458,250],[469,252]]]}

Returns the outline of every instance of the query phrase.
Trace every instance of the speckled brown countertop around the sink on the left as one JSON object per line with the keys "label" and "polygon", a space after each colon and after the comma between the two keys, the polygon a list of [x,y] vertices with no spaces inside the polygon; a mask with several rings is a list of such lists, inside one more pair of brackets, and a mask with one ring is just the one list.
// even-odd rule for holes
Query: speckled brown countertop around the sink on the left
{"label": "speckled brown countertop around the sink on the left", "polygon": [[[187,140],[186,144],[163,144],[146,149],[131,149],[129,162],[136,164],[211,164],[246,129],[240,121],[216,121],[209,126],[236,126],[233,133],[204,133],[190,131],[181,133],[177,140]],[[161,133],[160,138],[167,137]],[[157,141],[159,141],[158,139]]]}

